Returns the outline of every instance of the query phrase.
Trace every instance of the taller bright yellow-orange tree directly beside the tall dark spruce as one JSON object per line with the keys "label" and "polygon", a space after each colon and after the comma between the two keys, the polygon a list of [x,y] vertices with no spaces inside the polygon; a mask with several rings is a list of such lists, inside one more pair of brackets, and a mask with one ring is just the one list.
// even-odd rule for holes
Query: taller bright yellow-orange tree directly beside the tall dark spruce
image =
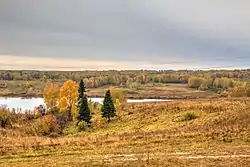
{"label": "taller bright yellow-orange tree directly beside the tall dark spruce", "polygon": [[77,117],[77,97],[78,84],[72,80],[66,81],[60,89],[58,106],[61,111],[66,111],[69,108],[73,119]]}

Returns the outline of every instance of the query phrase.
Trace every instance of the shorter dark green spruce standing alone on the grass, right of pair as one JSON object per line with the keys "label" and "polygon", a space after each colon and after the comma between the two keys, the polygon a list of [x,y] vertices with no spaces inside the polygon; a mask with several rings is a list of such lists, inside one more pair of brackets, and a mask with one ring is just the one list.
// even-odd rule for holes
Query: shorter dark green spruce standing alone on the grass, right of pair
{"label": "shorter dark green spruce standing alone on the grass, right of pair", "polygon": [[105,94],[101,112],[102,112],[102,117],[107,118],[108,122],[110,122],[111,117],[116,116],[116,110],[110,94],[110,90],[108,90]]}

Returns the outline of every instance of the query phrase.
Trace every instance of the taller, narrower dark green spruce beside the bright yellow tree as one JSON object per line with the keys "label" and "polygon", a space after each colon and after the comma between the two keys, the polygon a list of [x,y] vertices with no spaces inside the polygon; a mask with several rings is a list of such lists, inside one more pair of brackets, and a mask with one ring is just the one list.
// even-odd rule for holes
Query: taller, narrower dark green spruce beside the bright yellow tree
{"label": "taller, narrower dark green spruce beside the bright yellow tree", "polygon": [[85,93],[85,85],[81,80],[78,89],[78,121],[85,121],[88,125],[91,124],[91,112],[88,106],[88,98]]}

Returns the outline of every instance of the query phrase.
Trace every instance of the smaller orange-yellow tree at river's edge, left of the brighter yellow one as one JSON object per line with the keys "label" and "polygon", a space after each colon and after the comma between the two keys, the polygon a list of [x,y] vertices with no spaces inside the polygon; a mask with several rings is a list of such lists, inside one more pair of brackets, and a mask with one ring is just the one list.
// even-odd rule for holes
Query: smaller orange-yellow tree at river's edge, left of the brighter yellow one
{"label": "smaller orange-yellow tree at river's edge, left of the brighter yellow one", "polygon": [[43,99],[47,109],[56,107],[59,98],[59,87],[54,83],[47,83],[43,90]]}

